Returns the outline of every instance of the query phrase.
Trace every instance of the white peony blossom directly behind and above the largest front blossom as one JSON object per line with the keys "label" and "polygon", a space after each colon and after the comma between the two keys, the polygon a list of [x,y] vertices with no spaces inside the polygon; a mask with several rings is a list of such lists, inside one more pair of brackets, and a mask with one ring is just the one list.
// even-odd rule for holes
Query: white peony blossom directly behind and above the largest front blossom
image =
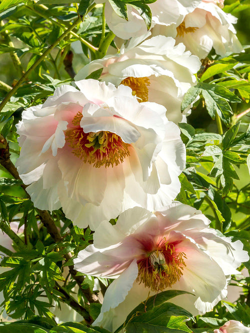
{"label": "white peony blossom directly behind and above the largest front blossom", "polygon": [[129,86],[139,102],[156,102],[166,108],[167,119],[182,121],[180,104],[186,91],[196,83],[194,74],[200,67],[196,56],[185,52],[182,43],[174,46],[171,37],[155,36],[141,42],[132,39],[120,53],[93,60],[75,79],[82,79],[103,68],[100,79],[115,86]]}

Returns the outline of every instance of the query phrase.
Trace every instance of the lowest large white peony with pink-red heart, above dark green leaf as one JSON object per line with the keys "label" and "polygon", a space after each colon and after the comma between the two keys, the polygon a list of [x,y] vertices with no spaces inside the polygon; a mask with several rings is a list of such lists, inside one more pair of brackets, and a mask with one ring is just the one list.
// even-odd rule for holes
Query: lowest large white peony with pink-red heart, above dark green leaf
{"label": "lowest large white peony with pink-red heart, above dark green leaf", "polygon": [[171,302],[193,315],[225,298],[230,274],[249,257],[240,241],[232,243],[209,223],[200,211],[179,202],[155,213],[134,207],[114,226],[103,221],[93,245],[74,259],[79,272],[115,279],[93,325],[113,332],[140,302],[167,289],[192,293]]}

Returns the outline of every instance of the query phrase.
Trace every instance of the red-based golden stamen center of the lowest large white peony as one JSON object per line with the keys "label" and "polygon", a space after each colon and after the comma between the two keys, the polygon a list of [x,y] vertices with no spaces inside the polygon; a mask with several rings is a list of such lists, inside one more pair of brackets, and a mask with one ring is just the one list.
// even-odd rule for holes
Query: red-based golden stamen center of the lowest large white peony
{"label": "red-based golden stamen center of the lowest large white peony", "polygon": [[185,254],[175,251],[173,244],[164,242],[146,258],[137,261],[137,282],[154,292],[171,287],[183,274],[184,258]]}

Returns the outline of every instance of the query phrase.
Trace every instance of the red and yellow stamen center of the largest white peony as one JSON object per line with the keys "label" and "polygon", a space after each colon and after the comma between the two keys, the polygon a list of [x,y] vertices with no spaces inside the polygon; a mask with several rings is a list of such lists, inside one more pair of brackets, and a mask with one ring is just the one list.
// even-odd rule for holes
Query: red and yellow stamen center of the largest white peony
{"label": "red and yellow stamen center of the largest white peony", "polygon": [[129,155],[129,144],[115,133],[108,131],[84,133],[80,127],[82,114],[78,112],[72,124],[75,128],[65,131],[65,140],[72,148],[72,153],[83,160],[84,163],[93,164],[95,168],[104,165],[118,165]]}

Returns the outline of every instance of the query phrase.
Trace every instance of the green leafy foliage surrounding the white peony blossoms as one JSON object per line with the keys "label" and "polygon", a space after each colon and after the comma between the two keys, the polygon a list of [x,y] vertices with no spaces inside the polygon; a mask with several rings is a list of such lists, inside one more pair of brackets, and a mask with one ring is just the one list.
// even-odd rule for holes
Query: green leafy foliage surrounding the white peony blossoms
{"label": "green leafy foliage surrounding the white peony blossoms", "polygon": [[[109,0],[114,11],[127,20],[127,6],[132,6],[151,25],[148,4],[154,0]],[[76,5],[77,3],[77,5]],[[44,6],[45,5],[45,6]],[[232,14],[250,8],[248,0],[237,0],[225,5]],[[58,41],[61,34],[73,24],[78,15],[82,21],[72,33]],[[37,64],[44,51],[57,43],[28,77],[20,84],[0,113],[0,132],[9,144],[11,160],[15,162],[19,148],[15,125],[21,112],[27,107],[38,105],[53,94],[55,88],[70,83],[71,77],[63,63],[68,51],[74,54],[72,66],[80,69],[89,60],[98,57],[101,41],[109,33],[102,23],[102,4],[94,6],[92,0],[1,0],[0,57],[1,80],[10,87],[16,84],[23,72]],[[12,43],[3,32],[7,31]],[[74,52],[78,42],[82,54]],[[115,41],[111,46],[116,50]],[[17,56],[21,62],[19,70],[12,64]],[[191,87],[182,101],[184,111],[192,104],[188,123],[180,123],[181,138],[186,146],[186,167],[179,176],[180,193],[176,200],[200,209],[209,220],[210,226],[225,236],[240,240],[250,253],[250,48],[245,52],[223,59],[211,55],[212,61],[203,64],[198,73],[198,83]],[[6,60],[7,59],[7,60]],[[4,61],[7,61],[6,64]],[[15,64],[16,65],[16,64]],[[17,65],[18,67],[18,65]],[[99,79],[102,68],[93,71],[87,78]],[[5,91],[0,89],[0,99]],[[197,112],[195,123],[193,114]],[[245,113],[245,114],[243,114]],[[201,118],[204,116],[204,118]],[[217,123],[215,123],[215,120]],[[219,122],[222,121],[221,128]],[[41,223],[39,211],[33,206],[22,182],[14,179],[0,167],[0,223],[1,228],[12,230],[14,222],[19,224],[13,249],[0,246],[4,255],[0,266],[0,292],[4,300],[1,307],[14,323],[0,323],[1,333],[108,333],[98,327],[88,327],[89,318],[82,323],[66,322],[57,325],[53,320],[54,307],[74,301],[90,316],[90,322],[100,313],[100,304],[90,303],[88,294],[95,289],[105,292],[110,280],[97,279],[77,273],[78,284],[72,276],[73,259],[78,252],[93,242],[89,228],[73,226],[59,209],[49,213],[61,238],[57,242],[46,226]],[[116,223],[116,219],[110,221]],[[70,254],[70,255],[69,255]],[[250,269],[250,263],[243,267]],[[4,272],[3,272],[4,270]],[[250,279],[233,278],[234,284],[243,286],[238,302],[220,302],[213,311],[198,316],[194,321],[186,310],[169,302],[184,292],[169,290],[158,293],[140,303],[116,331],[127,333],[213,333],[227,320],[242,321],[250,325],[249,291]],[[80,286],[78,292],[75,287]],[[70,311],[70,310],[68,310]],[[38,315],[39,317],[35,317]],[[18,319],[23,319],[18,321]],[[86,325],[87,324],[87,325]]]}

